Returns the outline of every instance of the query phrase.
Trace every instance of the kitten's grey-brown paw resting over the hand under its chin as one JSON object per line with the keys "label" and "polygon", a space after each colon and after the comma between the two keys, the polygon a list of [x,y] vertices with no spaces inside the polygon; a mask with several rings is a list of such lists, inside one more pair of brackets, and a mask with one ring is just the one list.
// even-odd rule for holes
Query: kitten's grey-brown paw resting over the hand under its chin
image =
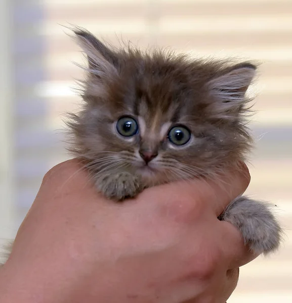
{"label": "kitten's grey-brown paw resting over the hand under its chin", "polygon": [[127,172],[105,174],[97,179],[96,186],[107,198],[114,200],[135,197],[143,190],[140,179]]}

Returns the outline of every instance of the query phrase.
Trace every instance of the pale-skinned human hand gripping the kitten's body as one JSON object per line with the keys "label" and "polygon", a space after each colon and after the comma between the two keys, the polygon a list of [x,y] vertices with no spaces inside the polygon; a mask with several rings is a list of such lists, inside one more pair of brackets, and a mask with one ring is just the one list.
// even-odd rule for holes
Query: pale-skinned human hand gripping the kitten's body
{"label": "pale-skinned human hand gripping the kitten's body", "polygon": [[194,180],[116,203],[77,160],[50,170],[0,270],[2,303],[224,303],[256,258],[217,216],[249,183]]}

